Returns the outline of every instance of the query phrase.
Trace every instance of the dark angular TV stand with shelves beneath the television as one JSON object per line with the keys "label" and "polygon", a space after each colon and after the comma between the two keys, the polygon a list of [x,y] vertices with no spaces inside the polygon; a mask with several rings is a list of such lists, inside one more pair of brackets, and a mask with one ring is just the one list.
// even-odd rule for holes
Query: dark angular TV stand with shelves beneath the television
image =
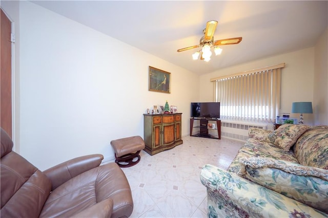
{"label": "dark angular TV stand with shelves beneath the television", "polygon": [[[194,126],[194,121],[199,120],[199,125]],[[209,121],[216,121],[216,128],[211,130],[217,130],[217,136],[210,134],[208,129]],[[193,134],[193,130],[197,128],[197,133]],[[221,139],[221,120],[207,119],[207,118],[190,118],[190,136]]]}

